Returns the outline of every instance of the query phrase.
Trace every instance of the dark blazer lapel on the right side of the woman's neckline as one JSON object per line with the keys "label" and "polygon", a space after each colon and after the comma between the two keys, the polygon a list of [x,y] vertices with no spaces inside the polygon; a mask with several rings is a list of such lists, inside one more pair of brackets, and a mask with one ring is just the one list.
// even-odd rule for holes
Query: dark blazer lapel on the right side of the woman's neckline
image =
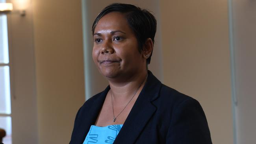
{"label": "dark blazer lapel on the right side of the woman's neckline", "polygon": [[148,71],[148,79],[113,144],[134,144],[156,111],[152,101],[158,97],[161,82]]}

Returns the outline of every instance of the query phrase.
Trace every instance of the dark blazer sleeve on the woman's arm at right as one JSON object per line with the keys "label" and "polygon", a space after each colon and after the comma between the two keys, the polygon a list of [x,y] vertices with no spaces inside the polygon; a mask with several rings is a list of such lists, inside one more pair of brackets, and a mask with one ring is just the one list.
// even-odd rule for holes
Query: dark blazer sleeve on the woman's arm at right
{"label": "dark blazer sleeve on the woman's arm at right", "polygon": [[174,108],[166,144],[212,144],[206,116],[197,100],[184,100]]}

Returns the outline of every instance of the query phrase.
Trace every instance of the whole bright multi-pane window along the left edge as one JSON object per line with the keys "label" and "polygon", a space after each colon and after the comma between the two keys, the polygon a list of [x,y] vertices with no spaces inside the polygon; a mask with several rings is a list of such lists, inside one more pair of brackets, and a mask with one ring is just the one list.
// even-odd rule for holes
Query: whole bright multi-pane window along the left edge
{"label": "whole bright multi-pane window along the left edge", "polygon": [[3,143],[11,144],[11,94],[6,15],[0,15],[0,128],[5,129],[7,134]]}

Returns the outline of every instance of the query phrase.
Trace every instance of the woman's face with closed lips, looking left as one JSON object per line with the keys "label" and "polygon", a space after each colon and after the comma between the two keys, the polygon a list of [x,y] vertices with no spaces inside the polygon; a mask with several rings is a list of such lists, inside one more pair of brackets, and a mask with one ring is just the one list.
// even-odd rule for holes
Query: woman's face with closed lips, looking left
{"label": "woman's face with closed lips, looking left", "polygon": [[93,39],[93,60],[107,78],[125,78],[146,69],[146,59],[124,14],[111,12],[102,17]]}

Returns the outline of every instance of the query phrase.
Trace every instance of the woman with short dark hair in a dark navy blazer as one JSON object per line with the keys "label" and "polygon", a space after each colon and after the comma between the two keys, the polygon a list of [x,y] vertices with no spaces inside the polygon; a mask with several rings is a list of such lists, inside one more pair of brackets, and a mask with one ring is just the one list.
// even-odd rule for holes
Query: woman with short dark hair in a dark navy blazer
{"label": "woman with short dark hair in a dark navy blazer", "polygon": [[197,100],[147,70],[156,33],[151,13],[111,4],[92,32],[93,60],[109,86],[79,109],[70,144],[211,144]]}

